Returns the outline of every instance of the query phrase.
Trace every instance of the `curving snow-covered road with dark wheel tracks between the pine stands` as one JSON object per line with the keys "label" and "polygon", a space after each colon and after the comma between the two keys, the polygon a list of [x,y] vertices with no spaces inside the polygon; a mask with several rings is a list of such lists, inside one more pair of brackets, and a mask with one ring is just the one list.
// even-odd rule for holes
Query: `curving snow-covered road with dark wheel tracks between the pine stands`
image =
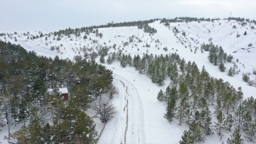
{"label": "curving snow-covered road with dark wheel tracks between the pine stands", "polygon": [[98,143],[145,143],[144,110],[134,85],[114,74],[114,86],[119,91],[118,114],[106,124]]}

